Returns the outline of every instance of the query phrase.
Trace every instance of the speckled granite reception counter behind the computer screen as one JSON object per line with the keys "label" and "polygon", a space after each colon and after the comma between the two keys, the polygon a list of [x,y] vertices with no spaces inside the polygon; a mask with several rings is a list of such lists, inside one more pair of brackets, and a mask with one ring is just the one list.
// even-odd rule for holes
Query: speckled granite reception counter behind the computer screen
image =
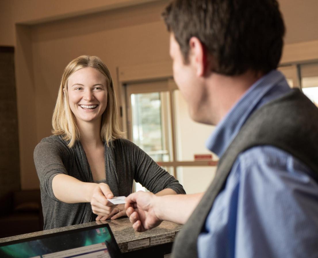
{"label": "speckled granite reception counter behind the computer screen", "polygon": [[117,220],[90,222],[1,238],[0,243],[71,229],[84,228],[102,223],[109,224],[124,257],[168,257],[168,254],[171,252],[172,242],[174,241],[176,234],[181,229],[181,225],[164,221],[154,229],[138,233],[134,231],[128,218],[121,218]]}

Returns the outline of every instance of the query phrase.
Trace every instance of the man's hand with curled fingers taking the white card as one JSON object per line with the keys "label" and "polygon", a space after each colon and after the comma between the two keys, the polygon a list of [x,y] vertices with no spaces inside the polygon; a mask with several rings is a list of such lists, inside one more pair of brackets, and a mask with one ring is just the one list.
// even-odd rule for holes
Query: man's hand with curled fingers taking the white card
{"label": "man's hand with curled fingers taking the white card", "polygon": [[157,227],[162,222],[154,209],[156,198],[160,197],[143,191],[132,193],[126,197],[126,213],[135,231],[143,232]]}

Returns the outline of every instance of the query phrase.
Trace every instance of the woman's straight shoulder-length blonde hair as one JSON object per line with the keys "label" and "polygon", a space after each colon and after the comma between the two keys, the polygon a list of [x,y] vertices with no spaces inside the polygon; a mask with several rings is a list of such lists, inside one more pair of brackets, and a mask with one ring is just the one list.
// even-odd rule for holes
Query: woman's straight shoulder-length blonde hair
{"label": "woman's straight shoulder-length blonde hair", "polygon": [[[117,101],[114,91],[114,83],[108,68],[97,56],[81,55],[72,60],[64,69],[52,117],[52,133],[54,135],[62,135],[64,140],[69,141],[69,148],[71,148],[74,143],[79,140],[80,135],[76,125],[76,119],[68,102],[67,80],[71,74],[85,67],[95,68],[100,73],[104,74],[108,81],[107,107],[102,114],[100,138],[109,146],[109,143],[112,145],[113,140],[122,137],[122,132],[118,125]],[[65,90],[63,91],[63,89]]]}

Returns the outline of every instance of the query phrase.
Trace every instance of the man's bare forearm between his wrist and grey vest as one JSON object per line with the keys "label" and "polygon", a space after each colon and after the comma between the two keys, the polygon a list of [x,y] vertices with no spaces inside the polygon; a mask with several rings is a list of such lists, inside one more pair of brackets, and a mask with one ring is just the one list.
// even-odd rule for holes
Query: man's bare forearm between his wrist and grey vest
{"label": "man's bare forearm between his wrist and grey vest", "polygon": [[160,220],[184,224],[189,219],[204,193],[165,195],[156,198],[154,209]]}

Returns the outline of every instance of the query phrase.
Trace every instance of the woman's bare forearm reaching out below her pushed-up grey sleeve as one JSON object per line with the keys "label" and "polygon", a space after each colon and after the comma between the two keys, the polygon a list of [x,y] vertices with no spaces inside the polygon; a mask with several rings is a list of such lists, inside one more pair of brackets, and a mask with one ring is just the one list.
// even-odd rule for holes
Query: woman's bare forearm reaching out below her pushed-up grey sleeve
{"label": "woman's bare forearm reaching out below her pushed-up grey sleeve", "polygon": [[95,183],[84,183],[65,174],[58,174],[52,180],[54,196],[65,203],[89,203],[95,187]]}

